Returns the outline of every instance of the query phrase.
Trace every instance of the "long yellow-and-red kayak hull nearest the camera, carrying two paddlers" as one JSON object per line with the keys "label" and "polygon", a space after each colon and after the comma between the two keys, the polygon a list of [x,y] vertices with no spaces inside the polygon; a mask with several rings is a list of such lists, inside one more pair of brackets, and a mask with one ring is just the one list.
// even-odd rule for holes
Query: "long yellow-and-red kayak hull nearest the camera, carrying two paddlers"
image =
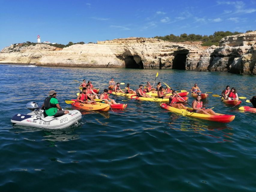
{"label": "long yellow-and-red kayak hull nearest the camera, carrying two paddlers", "polygon": [[[185,109],[180,110],[178,108],[171,107],[165,103],[160,104],[160,106],[166,110],[171,111],[171,112],[175,112],[175,113],[179,113],[179,114],[182,114],[183,112],[185,112],[186,116],[195,117],[195,118],[204,119],[204,120],[213,121],[213,122],[230,123],[231,121],[233,121],[235,119],[234,115],[224,115],[224,114],[220,114],[220,113],[217,113],[218,115],[206,115],[206,114],[201,114],[201,113],[196,113],[196,112],[188,112]],[[188,108],[188,110],[192,110],[192,108]]]}

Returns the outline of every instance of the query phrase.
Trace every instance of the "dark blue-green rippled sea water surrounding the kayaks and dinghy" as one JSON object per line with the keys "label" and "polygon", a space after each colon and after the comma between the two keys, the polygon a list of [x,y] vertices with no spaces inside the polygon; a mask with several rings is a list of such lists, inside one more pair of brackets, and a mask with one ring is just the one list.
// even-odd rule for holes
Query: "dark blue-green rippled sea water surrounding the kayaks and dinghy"
{"label": "dark blue-green rippled sea water surrounding the kayaks and dinghy", "polygon": [[[0,65],[0,191],[256,191],[256,113],[242,113],[211,95],[217,113],[236,115],[229,124],[181,116],[159,103],[122,98],[128,107],[81,111],[78,125],[42,130],[12,125],[11,117],[41,106],[49,90],[60,106],[76,98],[84,78],[103,91],[113,77],[131,88],[147,81],[219,94],[236,87],[256,95],[255,76],[185,70],[138,70]],[[123,85],[124,88],[124,85]],[[189,103],[193,98],[189,98]],[[241,106],[249,105],[242,101]]]}

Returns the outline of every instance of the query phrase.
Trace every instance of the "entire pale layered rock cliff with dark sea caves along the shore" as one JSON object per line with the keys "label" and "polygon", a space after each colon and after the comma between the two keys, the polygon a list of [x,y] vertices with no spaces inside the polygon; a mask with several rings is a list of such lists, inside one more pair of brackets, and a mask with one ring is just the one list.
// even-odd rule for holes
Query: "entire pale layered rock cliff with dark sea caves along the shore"
{"label": "entire pale layered rock cliff with dark sea caves along the shore", "polygon": [[173,43],[154,38],[124,38],[75,44],[63,49],[46,44],[12,45],[0,63],[65,67],[184,69],[256,74],[256,32],[228,36],[220,46],[198,42]]}

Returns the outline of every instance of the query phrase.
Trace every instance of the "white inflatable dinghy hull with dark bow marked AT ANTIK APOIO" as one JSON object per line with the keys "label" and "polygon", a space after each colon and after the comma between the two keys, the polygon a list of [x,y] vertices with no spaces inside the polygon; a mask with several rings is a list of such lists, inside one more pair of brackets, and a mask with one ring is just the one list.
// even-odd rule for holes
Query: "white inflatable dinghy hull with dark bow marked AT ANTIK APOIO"
{"label": "white inflatable dinghy hull with dark bow marked AT ANTIK APOIO", "polygon": [[16,125],[25,125],[45,129],[63,129],[71,125],[76,125],[82,118],[78,110],[69,110],[68,114],[59,117],[44,117],[43,110],[36,110],[28,114],[16,114],[11,122]]}

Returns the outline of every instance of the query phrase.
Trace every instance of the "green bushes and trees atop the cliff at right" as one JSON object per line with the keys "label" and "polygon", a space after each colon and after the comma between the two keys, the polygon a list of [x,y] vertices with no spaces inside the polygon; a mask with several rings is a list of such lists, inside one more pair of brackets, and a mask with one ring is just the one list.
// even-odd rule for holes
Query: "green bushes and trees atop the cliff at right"
{"label": "green bushes and trees atop the cliff at right", "polygon": [[[246,33],[252,32],[252,30],[246,31]],[[230,31],[217,31],[214,32],[213,35],[196,35],[196,34],[189,34],[187,35],[186,33],[180,34],[180,36],[176,36],[173,34],[170,35],[165,35],[165,36],[156,36],[154,38],[161,39],[164,41],[171,41],[171,42],[184,42],[184,41],[202,41],[202,46],[212,46],[216,45],[218,46],[219,41],[227,36],[231,35],[238,35],[241,34],[242,32],[230,32]]]}

